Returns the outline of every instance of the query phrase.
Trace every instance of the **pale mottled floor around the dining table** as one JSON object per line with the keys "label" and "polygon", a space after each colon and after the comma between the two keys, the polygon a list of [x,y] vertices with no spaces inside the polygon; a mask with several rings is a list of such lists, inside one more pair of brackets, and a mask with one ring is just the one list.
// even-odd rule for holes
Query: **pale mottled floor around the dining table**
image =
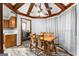
{"label": "pale mottled floor around the dining table", "polygon": [[[46,56],[39,49],[30,50],[30,41],[24,41],[22,47],[12,47],[5,49],[4,53],[8,53],[9,56]],[[57,53],[52,53],[52,56],[70,56],[65,50],[56,47]]]}

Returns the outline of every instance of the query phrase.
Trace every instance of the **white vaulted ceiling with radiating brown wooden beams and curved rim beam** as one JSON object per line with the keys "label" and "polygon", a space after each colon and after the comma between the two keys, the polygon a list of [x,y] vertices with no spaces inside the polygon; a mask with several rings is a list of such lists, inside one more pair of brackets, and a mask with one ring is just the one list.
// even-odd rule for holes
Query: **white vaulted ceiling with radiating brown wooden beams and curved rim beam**
{"label": "white vaulted ceiling with radiating brown wooden beams and curved rim beam", "polygon": [[[42,12],[39,15],[37,7],[41,4]],[[61,14],[74,3],[4,3],[5,6],[17,14],[31,18],[48,18]]]}

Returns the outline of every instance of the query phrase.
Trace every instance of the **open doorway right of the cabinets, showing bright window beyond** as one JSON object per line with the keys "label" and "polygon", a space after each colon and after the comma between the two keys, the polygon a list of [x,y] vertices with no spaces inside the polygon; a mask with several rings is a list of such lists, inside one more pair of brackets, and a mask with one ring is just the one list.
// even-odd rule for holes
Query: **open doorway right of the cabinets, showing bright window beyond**
{"label": "open doorway right of the cabinets, showing bright window beyond", "polygon": [[29,41],[30,41],[30,20],[21,18],[21,44],[23,47],[29,47]]}

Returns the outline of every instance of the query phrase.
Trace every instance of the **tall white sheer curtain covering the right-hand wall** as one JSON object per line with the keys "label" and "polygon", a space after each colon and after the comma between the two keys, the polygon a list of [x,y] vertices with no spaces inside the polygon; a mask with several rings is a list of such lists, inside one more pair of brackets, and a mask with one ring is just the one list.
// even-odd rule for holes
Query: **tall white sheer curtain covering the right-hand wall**
{"label": "tall white sheer curtain covering the right-hand wall", "polygon": [[73,7],[58,17],[59,45],[73,55],[76,54],[75,13]]}

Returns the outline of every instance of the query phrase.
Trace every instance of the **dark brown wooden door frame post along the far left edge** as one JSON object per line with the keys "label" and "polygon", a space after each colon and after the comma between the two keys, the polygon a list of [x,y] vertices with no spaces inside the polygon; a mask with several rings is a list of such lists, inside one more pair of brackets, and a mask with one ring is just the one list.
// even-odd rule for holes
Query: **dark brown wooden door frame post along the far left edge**
{"label": "dark brown wooden door frame post along the far left edge", "polygon": [[4,50],[3,50],[3,3],[0,3],[0,53],[4,53]]}

